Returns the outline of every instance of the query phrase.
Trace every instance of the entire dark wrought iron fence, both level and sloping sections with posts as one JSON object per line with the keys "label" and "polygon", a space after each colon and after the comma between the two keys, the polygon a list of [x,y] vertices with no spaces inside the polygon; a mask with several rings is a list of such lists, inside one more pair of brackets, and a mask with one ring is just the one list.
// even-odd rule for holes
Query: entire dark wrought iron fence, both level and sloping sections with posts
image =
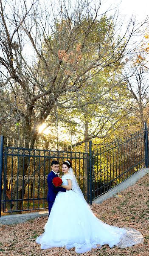
{"label": "entire dark wrought iron fence, both level and sloping sections with posts", "polygon": [[[0,209],[24,212],[48,209],[47,177],[51,161],[60,166],[70,159],[79,186],[88,203],[149,166],[148,129],[131,134],[89,153],[24,147],[4,147],[0,137]],[[1,212],[1,211],[0,211]],[[0,213],[1,214],[1,213]],[[1,215],[0,215],[1,216]]]}

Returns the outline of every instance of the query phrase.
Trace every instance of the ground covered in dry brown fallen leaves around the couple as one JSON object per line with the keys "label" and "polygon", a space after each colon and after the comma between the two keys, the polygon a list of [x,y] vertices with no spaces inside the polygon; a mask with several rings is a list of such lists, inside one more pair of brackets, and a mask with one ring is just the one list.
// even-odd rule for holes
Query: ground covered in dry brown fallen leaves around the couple
{"label": "ground covered in dry brown fallen leaves around the couple", "polygon": [[91,252],[77,254],[73,249],[53,248],[41,250],[35,240],[44,230],[47,217],[22,224],[0,227],[0,256],[149,256],[149,175],[144,176],[118,197],[109,198],[102,204],[93,204],[96,217],[107,224],[132,227],[144,236],[144,243],[121,249],[108,245]]}

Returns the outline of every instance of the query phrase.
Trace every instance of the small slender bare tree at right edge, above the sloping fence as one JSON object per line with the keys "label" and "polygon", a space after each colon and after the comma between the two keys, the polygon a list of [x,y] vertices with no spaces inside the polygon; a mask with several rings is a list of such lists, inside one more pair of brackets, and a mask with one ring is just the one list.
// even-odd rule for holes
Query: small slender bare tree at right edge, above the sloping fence
{"label": "small slender bare tree at right edge, above the sloping fence", "polygon": [[135,52],[125,70],[125,81],[133,99],[135,124],[144,126],[149,120],[149,67],[143,52]]}

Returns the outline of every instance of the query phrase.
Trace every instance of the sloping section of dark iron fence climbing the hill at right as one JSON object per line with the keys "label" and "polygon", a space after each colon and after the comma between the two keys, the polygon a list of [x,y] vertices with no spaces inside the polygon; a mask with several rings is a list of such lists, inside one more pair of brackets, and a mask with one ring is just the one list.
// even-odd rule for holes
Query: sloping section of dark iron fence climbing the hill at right
{"label": "sloping section of dark iron fence climbing the hill at right", "polygon": [[93,150],[92,199],[149,165],[148,129]]}

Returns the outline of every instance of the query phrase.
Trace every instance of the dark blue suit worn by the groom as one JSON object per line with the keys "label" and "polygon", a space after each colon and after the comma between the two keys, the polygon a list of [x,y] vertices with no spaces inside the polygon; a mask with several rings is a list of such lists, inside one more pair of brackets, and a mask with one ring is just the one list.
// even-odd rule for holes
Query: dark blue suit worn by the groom
{"label": "dark blue suit worn by the groom", "polygon": [[52,180],[53,178],[58,177],[58,175],[55,175],[53,171],[51,171],[48,175],[47,182],[48,182],[48,196],[47,196],[47,201],[48,201],[48,209],[49,209],[49,215],[51,212],[51,208],[53,206],[53,203],[55,201],[56,195],[59,191],[66,192],[66,189],[62,187],[54,187]]}

